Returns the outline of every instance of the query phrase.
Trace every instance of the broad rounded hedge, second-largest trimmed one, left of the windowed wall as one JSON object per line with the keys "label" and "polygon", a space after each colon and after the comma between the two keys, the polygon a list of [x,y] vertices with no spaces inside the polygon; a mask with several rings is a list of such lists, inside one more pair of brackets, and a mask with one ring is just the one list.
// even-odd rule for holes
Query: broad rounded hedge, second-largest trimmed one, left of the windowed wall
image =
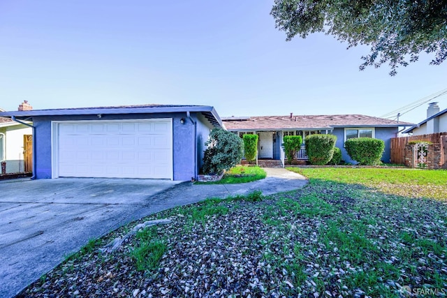
{"label": "broad rounded hedge, second-largest trimmed one, left of the windowed wall", "polygon": [[334,155],[335,135],[309,135],[306,137],[306,151],[309,163],[312,165],[325,165]]}

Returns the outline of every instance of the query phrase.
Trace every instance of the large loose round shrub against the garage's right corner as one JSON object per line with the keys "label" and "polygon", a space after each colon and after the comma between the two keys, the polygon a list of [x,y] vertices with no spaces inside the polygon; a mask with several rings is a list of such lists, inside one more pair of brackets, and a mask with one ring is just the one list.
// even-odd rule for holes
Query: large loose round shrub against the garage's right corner
{"label": "large loose round shrub against the garage's right corner", "polygon": [[230,170],[242,158],[242,140],[222,128],[214,128],[205,145],[208,147],[203,156],[205,174],[219,174],[223,170]]}

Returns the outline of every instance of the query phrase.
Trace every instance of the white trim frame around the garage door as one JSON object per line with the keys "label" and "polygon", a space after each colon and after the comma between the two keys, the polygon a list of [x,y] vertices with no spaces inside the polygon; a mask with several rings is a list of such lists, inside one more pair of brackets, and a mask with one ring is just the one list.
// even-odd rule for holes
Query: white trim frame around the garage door
{"label": "white trim frame around the garage door", "polygon": [[156,122],[169,121],[170,122],[170,149],[171,156],[171,171],[170,180],[174,180],[174,147],[173,147],[173,118],[151,118],[151,119],[112,119],[112,120],[67,120],[67,121],[51,121],[51,177],[52,179],[59,178],[59,124],[82,124],[82,123],[98,123],[98,122]]}

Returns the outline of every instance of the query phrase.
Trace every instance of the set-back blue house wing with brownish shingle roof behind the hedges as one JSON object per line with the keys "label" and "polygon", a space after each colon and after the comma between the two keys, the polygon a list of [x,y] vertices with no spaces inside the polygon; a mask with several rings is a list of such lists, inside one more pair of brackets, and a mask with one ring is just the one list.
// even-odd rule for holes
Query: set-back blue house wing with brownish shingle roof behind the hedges
{"label": "set-back blue house wing with brownish shingle roof behind the hedges", "polygon": [[[406,122],[397,122],[358,114],[307,116],[265,116],[265,117],[223,117],[228,131],[239,134],[256,133],[258,139],[258,157],[280,160],[284,152],[281,143],[284,135],[301,135],[303,140],[316,133],[337,136],[336,147],[342,149],[342,158],[354,163],[344,149],[344,142],[353,137],[374,137],[385,141],[382,161],[390,162],[390,138],[397,137],[400,126],[410,126]],[[298,152],[298,159],[307,159],[304,146]]]}

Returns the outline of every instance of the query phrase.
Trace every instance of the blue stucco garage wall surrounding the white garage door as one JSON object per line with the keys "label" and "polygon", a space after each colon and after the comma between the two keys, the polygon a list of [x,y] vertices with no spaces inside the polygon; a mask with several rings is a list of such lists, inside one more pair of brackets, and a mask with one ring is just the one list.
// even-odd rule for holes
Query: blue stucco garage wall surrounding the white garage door
{"label": "blue stucco garage wall surrounding the white garage door", "polygon": [[[203,119],[198,119],[196,115],[191,117],[197,121],[198,126],[207,126],[203,124]],[[186,112],[181,113],[155,113],[155,114],[103,114],[101,121],[117,119],[173,119],[173,179],[177,181],[189,181],[195,174],[194,158],[194,125],[187,119]],[[186,119],[184,124],[180,119]],[[52,177],[52,128],[51,121],[80,121],[80,120],[98,120],[96,115],[66,115],[52,117],[33,117],[36,127],[36,178],[49,179]],[[200,137],[204,137],[203,130],[200,130]],[[209,132],[209,130],[208,130]]]}

